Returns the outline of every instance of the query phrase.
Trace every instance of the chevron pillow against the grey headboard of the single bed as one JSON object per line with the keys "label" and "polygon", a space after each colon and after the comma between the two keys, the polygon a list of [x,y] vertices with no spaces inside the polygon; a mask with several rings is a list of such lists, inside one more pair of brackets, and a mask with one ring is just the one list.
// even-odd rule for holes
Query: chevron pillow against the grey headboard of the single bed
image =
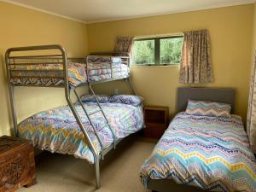
{"label": "chevron pillow against the grey headboard of the single bed", "polygon": [[230,110],[231,106],[226,103],[189,100],[186,113],[198,116],[230,118]]}

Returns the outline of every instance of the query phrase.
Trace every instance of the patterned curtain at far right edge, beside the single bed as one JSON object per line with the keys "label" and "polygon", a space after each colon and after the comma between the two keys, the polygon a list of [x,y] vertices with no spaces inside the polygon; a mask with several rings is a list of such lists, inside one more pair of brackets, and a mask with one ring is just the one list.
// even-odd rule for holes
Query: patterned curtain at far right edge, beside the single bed
{"label": "patterned curtain at far right edge, beside the single bed", "polygon": [[251,74],[250,95],[247,111],[247,135],[249,137],[253,153],[256,154],[256,51]]}

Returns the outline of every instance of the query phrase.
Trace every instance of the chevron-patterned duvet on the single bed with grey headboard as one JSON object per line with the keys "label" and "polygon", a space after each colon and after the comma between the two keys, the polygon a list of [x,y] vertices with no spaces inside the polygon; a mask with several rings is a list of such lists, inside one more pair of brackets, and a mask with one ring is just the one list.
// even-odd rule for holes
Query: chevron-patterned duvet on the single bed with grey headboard
{"label": "chevron-patterned duvet on the single bed with grey headboard", "polygon": [[256,191],[256,161],[241,117],[178,113],[142,166],[140,177],[172,179],[211,191]]}

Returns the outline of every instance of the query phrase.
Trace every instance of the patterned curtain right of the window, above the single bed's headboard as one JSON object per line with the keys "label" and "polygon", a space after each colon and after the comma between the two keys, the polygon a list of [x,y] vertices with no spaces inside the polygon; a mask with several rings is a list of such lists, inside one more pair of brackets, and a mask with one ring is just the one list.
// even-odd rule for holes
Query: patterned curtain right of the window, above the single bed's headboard
{"label": "patterned curtain right of the window, above the single bed's headboard", "polygon": [[209,33],[207,30],[184,32],[179,82],[195,84],[212,81]]}

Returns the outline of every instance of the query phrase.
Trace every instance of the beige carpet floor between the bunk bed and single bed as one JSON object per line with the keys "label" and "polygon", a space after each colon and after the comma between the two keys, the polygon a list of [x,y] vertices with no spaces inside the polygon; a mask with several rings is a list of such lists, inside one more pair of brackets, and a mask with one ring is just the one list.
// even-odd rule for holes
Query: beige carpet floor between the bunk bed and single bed
{"label": "beige carpet floor between the bunk bed and single bed", "polygon": [[155,141],[128,137],[106,155],[101,164],[101,189],[95,189],[94,166],[71,155],[39,154],[36,158],[38,183],[24,192],[146,192],[139,179],[140,167]]}

